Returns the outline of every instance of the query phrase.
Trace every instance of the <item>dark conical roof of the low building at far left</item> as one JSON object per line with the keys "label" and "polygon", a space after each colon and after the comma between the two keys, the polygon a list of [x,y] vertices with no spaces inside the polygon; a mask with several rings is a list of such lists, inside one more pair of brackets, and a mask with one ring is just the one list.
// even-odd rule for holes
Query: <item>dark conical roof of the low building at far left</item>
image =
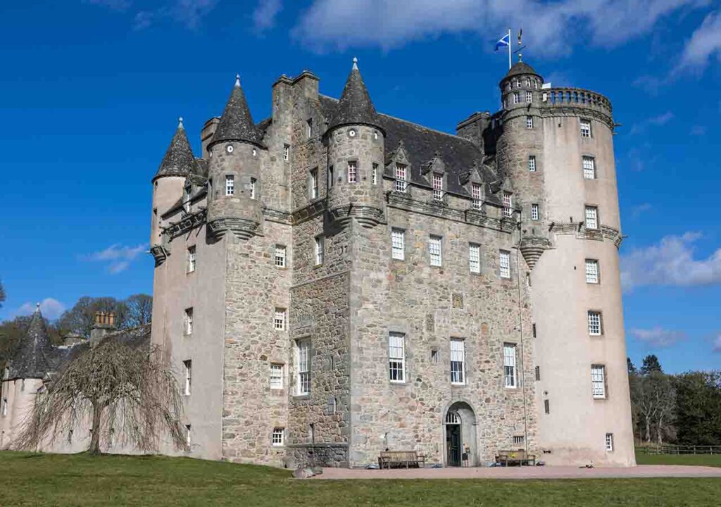
{"label": "dark conical roof of the low building at far left", "polygon": [[53,348],[38,304],[32,314],[27,335],[22,338],[17,354],[10,364],[9,380],[42,379],[52,369],[52,364]]}

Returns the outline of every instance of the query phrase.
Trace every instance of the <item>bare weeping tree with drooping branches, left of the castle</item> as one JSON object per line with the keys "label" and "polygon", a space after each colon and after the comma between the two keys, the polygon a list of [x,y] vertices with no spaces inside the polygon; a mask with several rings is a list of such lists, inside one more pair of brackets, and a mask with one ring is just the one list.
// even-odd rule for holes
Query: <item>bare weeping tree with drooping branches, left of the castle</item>
{"label": "bare weeping tree with drooping branches, left of the castle", "polygon": [[117,340],[81,353],[37,397],[15,446],[35,449],[91,420],[90,454],[100,453],[101,437],[153,451],[164,431],[177,449],[185,448],[180,389],[161,357],[157,348]]}

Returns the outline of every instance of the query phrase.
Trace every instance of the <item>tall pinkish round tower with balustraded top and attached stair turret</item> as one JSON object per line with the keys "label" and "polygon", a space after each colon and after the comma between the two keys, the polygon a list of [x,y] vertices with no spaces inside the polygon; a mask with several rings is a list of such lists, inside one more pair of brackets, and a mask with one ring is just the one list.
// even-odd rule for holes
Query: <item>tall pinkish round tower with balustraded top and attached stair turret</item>
{"label": "tall pinkish round tower with balustraded top and attached stair turret", "polygon": [[520,62],[500,81],[497,152],[522,208],[539,447],[549,464],[632,465],[611,104],[542,84]]}

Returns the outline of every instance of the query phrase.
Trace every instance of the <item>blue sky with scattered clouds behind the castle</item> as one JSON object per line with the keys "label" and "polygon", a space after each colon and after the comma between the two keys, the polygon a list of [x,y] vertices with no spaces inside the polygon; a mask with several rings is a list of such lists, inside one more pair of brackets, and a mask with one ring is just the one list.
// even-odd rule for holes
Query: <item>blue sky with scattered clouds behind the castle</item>
{"label": "blue sky with scattered clouds behind the castle", "polygon": [[606,94],[629,355],[721,365],[721,5],[709,0],[65,0],[0,5],[0,319],[151,292],[151,177],[236,72],[255,120],[280,74],[340,95],[357,56],[378,110],[454,131],[495,110],[523,27],[554,85]]}

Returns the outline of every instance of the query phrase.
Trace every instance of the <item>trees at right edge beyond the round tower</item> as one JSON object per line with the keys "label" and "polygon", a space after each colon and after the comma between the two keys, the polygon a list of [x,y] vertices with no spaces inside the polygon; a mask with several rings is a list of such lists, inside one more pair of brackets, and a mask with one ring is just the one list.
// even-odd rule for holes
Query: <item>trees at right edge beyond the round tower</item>
{"label": "trees at right edge beyond the round tower", "polygon": [[646,444],[721,445],[721,370],[666,374],[627,359],[634,436]]}

